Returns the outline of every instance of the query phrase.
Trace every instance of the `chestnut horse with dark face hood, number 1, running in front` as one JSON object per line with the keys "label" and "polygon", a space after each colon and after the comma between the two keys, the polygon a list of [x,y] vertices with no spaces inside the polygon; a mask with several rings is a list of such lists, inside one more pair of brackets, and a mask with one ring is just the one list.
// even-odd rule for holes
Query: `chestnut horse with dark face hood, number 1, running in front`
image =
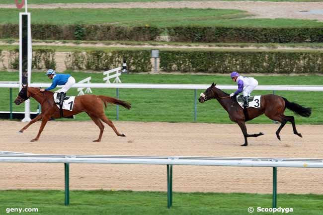
{"label": "chestnut horse with dark face hood, number 1, running in front", "polygon": [[[25,127],[23,127],[19,132],[23,132],[26,130],[31,124],[42,120],[41,126],[39,128],[39,132],[35,139],[31,140],[31,142],[37,141],[39,139],[40,134],[42,133],[47,121],[50,118],[60,118],[60,110],[54,102],[53,92],[45,91],[40,92],[39,88],[23,86],[20,90],[17,98],[14,100],[16,105],[23,103],[25,100],[30,97],[34,98],[39,104],[41,104],[42,112],[33,120],[31,120]],[[103,96],[103,95],[81,95],[76,96],[74,100],[74,106],[72,111],[64,110],[63,114],[65,117],[73,116],[79,114],[81,112],[87,113],[87,115],[93,120],[93,122],[99,127],[100,135],[99,138],[93,142],[100,142],[104,130],[104,125],[101,121],[108,124],[117,136],[125,137],[124,134],[120,134],[117,129],[114,127],[111,120],[109,120],[104,115],[103,103],[106,108],[107,103],[118,104],[127,109],[131,108],[131,104],[126,101],[121,101],[112,97]]]}

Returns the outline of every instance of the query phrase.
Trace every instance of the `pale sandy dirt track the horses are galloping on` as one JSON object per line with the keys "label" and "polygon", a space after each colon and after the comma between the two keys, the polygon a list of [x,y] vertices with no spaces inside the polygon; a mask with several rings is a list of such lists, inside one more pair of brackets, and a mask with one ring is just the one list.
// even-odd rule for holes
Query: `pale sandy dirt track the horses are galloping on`
{"label": "pale sandy dirt track the horses are galloping on", "polygon": [[[323,158],[322,125],[297,125],[304,138],[294,135],[290,125],[247,125],[249,138],[235,124],[114,122],[117,137],[105,126],[102,142],[93,122],[57,122],[46,125],[38,142],[40,123],[18,134],[25,123],[0,121],[0,150],[39,154],[171,155],[232,157]],[[0,163],[0,189],[64,189],[64,164]],[[278,193],[323,194],[323,171],[278,168]],[[71,189],[166,191],[165,165],[70,164]],[[173,190],[180,192],[272,192],[270,167],[174,166]]]}

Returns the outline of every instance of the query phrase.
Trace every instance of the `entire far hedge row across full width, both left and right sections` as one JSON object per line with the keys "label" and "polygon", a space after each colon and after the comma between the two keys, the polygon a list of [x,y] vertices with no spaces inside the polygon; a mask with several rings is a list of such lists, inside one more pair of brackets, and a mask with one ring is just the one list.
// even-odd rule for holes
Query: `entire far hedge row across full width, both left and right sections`
{"label": "entire far hedge row across full width, both left and right sections", "polygon": [[[165,32],[176,42],[303,43],[323,42],[323,28],[251,27],[127,27],[108,24],[32,24],[32,38],[40,40],[157,40]],[[0,38],[18,38],[18,24],[1,24]]]}

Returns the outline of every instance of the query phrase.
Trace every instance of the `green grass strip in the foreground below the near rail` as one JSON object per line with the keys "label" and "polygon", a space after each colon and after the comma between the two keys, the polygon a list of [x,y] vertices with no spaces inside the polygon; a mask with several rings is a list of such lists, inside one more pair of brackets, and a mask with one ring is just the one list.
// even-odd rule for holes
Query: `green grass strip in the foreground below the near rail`
{"label": "green grass strip in the foreground below the near rail", "polygon": [[[70,206],[64,206],[64,191],[0,191],[0,213],[7,208],[38,208],[30,215],[247,215],[248,207],[271,208],[271,195],[242,193],[173,193],[167,209],[164,192],[71,191]],[[323,195],[278,194],[277,207],[293,208],[293,215],[322,215]],[[10,213],[10,215],[19,213]],[[281,214],[278,213],[277,214]]]}

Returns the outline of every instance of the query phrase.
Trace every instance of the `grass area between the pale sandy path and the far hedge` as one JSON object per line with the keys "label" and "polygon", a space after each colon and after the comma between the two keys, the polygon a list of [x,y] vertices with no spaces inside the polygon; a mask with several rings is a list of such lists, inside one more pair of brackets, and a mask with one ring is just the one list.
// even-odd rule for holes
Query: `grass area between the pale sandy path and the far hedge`
{"label": "grass area between the pale sandy path and the far hedge", "polygon": [[[110,23],[123,26],[183,25],[234,27],[323,27],[323,22],[301,19],[242,19],[245,11],[192,8],[30,9],[32,23]],[[0,9],[0,23],[18,23],[18,9]],[[55,14],[55,19],[48,14]],[[127,14],[125,16],[125,14]]]}

